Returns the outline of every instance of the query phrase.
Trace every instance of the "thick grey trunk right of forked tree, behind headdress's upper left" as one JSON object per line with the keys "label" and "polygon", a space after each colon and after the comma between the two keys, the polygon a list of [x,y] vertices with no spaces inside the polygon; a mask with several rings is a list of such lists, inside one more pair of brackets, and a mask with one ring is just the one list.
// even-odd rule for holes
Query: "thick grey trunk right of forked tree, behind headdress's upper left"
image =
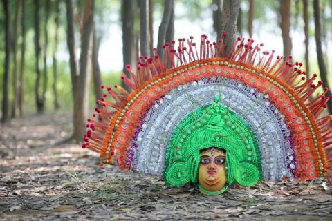
{"label": "thick grey trunk right of forked tree, behind headdress's upper left", "polygon": [[129,76],[125,66],[133,64],[136,57],[135,48],[135,30],[133,28],[134,22],[133,1],[121,1],[121,21],[122,21],[122,55],[123,55],[123,71]]}

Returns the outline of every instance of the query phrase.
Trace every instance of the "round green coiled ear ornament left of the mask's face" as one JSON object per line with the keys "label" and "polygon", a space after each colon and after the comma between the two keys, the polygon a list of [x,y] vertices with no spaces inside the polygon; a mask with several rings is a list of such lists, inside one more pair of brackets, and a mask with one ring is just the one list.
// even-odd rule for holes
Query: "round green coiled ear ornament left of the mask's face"
{"label": "round green coiled ear ornament left of the mask's face", "polygon": [[172,186],[182,186],[190,182],[187,165],[184,162],[174,162],[167,172],[166,180]]}

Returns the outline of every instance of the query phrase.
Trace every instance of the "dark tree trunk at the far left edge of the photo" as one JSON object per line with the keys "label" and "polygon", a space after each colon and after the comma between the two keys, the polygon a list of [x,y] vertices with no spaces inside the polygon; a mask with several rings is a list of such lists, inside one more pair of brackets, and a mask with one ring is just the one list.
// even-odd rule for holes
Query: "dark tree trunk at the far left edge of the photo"
{"label": "dark tree trunk at the far left edge of the photo", "polygon": [[9,58],[10,58],[10,9],[8,0],[2,0],[5,12],[5,73],[3,74],[3,100],[2,119],[3,123],[8,122],[8,86],[9,86]]}

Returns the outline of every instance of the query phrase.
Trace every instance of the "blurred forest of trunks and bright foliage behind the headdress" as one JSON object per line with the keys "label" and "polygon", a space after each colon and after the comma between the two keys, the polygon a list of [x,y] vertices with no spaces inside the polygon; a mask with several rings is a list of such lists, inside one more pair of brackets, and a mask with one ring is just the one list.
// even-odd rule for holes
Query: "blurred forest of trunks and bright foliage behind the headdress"
{"label": "blurred forest of trunks and bright foliage behind the headdress", "polygon": [[[324,87],[332,84],[332,1],[235,2],[234,35],[252,37],[278,55],[293,55],[304,61],[308,77],[317,73]],[[121,84],[124,64],[135,66],[139,55],[151,56],[152,48],[160,51],[165,41],[190,35],[216,41],[223,32],[222,7],[221,0],[2,0],[2,122],[57,109],[77,113],[89,105],[92,110],[102,96],[100,85]],[[83,86],[75,86],[78,79]],[[84,131],[78,118],[88,115],[74,115],[77,141]]]}

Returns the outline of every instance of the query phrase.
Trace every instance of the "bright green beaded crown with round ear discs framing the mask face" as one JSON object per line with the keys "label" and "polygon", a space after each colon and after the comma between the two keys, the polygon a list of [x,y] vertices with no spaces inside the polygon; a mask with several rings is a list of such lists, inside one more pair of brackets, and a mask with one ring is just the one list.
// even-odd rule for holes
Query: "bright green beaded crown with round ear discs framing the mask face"
{"label": "bright green beaded crown with round ear discs framing the mask face", "polygon": [[177,126],[169,140],[165,178],[173,186],[197,182],[200,151],[221,148],[226,152],[227,183],[252,186],[262,179],[257,140],[240,115],[219,103],[196,109]]}

